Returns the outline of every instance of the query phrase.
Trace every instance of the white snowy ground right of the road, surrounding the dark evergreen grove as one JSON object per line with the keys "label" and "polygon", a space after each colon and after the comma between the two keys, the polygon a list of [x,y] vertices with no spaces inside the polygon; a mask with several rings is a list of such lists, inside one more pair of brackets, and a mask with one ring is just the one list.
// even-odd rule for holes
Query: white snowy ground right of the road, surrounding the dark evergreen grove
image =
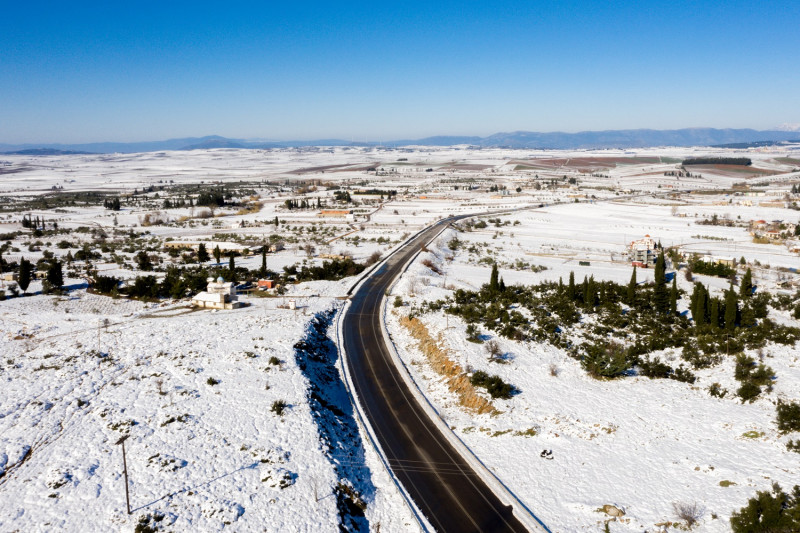
{"label": "white snowy ground right of the road, surrounding the dark evergreen grove", "polygon": [[[797,455],[786,450],[787,437],[774,422],[777,399],[800,398],[798,346],[770,345],[763,351],[764,361],[778,376],[774,391],[742,404],[732,393],[719,399],[707,390],[714,382],[729,391],[738,388],[732,357],[697,371],[694,385],[645,377],[598,381],[561,349],[494,334],[489,336],[500,344],[508,363],[490,362],[483,345],[466,340],[461,319],[443,313],[421,315],[432,337],[440,338],[463,368],[499,375],[521,391],[510,400],[495,400],[502,413],[491,416],[475,415],[458,405],[399,323],[408,305],[488,282],[490,268],[475,264],[474,254],[467,251],[470,243],[488,242],[491,256],[504,264],[525,258],[547,266],[538,273],[501,268],[507,284],[566,280],[570,271],[578,280],[585,274],[626,283],[631,271],[627,263],[614,263],[608,255],[595,262],[603,254],[619,253],[616,243],[624,232],[639,229],[664,235],[665,246],[689,239],[683,224],[675,222],[685,219],[661,209],[659,216],[658,209],[645,215],[638,206],[613,204],[547,208],[501,217],[522,224],[503,226],[506,238],[496,239],[486,235],[492,233],[489,228],[481,230],[483,234],[448,230],[430,252],[418,257],[390,295],[406,302],[389,307],[387,323],[416,382],[456,434],[553,531],[601,530],[610,519],[600,511],[604,505],[625,511],[610,524],[611,531],[653,531],[680,522],[673,504],[695,502],[705,509],[698,530],[729,531],[731,512],[756,490],[773,482],[791,487],[800,477]],[[462,241],[455,253],[447,245],[454,237]],[[552,252],[541,251],[551,244]],[[547,257],[556,255],[557,259]],[[581,267],[578,258],[591,259],[591,265]],[[424,259],[442,274],[424,266]],[[641,274],[647,279],[647,271]],[[691,289],[689,282],[678,279],[683,289]],[[788,314],[776,314],[780,322],[798,325]],[[667,361],[680,357],[672,352],[661,355]],[[553,459],[541,458],[543,450],[552,450]]]}

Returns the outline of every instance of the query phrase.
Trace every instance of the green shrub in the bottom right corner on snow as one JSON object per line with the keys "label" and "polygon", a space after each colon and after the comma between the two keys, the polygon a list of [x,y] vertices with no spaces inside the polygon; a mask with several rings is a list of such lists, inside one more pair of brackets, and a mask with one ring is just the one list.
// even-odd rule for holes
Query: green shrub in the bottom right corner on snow
{"label": "green shrub in the bottom right corner on snow", "polygon": [[772,491],[759,491],[747,505],[731,516],[733,533],[768,533],[800,531],[800,487],[795,485],[791,495],[780,485]]}

